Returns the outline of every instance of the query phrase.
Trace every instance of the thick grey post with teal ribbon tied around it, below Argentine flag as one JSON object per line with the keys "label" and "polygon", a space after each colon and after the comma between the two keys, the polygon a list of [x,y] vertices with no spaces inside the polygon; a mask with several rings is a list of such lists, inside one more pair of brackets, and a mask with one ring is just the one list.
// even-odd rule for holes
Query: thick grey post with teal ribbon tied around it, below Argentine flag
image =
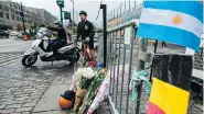
{"label": "thick grey post with teal ribbon tied around it, below Argentine flag", "polygon": [[[138,39],[139,43],[139,56],[142,53],[147,53],[147,47],[148,47],[148,39],[147,38],[139,38]],[[140,57],[139,57],[140,58]],[[143,70],[144,69],[144,64],[146,61],[138,59],[137,62],[137,71],[139,70]],[[140,110],[140,98],[141,98],[141,91],[142,91],[142,82],[136,87],[137,88],[137,92],[138,92],[138,101],[137,101],[137,106],[136,106],[136,114],[139,114],[139,110]]]}

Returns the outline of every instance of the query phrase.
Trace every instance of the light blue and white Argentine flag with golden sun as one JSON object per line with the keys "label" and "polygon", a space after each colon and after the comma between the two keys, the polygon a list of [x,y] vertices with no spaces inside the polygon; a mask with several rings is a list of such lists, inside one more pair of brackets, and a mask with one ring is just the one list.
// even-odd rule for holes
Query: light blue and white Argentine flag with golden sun
{"label": "light blue and white Argentine flag with golden sun", "polygon": [[203,4],[200,1],[144,1],[137,35],[200,50]]}

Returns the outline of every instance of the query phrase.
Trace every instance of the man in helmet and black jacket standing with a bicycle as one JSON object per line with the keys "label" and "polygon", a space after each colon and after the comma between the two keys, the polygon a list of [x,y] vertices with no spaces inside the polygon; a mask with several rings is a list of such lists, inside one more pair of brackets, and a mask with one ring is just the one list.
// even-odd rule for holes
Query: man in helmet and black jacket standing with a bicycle
{"label": "man in helmet and black jacket standing with a bicycle", "polygon": [[94,25],[92,22],[87,21],[87,13],[86,11],[80,11],[79,12],[79,16],[80,16],[80,22],[78,23],[77,26],[77,39],[79,38],[79,36],[82,37],[82,41],[86,39],[87,37],[89,37],[89,52],[90,55],[93,57],[93,59],[95,59],[95,52],[94,52]]}

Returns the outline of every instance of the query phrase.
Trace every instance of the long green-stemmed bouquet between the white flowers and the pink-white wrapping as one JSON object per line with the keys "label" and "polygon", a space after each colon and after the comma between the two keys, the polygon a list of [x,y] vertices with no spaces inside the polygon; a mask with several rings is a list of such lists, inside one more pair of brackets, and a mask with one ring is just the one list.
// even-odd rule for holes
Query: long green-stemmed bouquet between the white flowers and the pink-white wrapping
{"label": "long green-stemmed bouquet between the white flowers and the pink-white wrapping", "polygon": [[94,101],[94,99],[98,92],[98,88],[100,87],[101,82],[104,81],[107,72],[108,72],[107,69],[101,69],[98,71],[97,76],[93,79],[92,84],[88,89],[88,93],[86,95],[85,102],[80,106],[77,114],[84,114],[87,112],[87,110],[90,106],[92,102]]}

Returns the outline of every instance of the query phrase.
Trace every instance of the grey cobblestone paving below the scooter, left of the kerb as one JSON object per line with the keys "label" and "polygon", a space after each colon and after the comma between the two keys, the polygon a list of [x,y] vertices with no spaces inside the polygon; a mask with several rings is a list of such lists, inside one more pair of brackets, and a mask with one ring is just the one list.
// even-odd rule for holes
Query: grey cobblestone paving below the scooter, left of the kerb
{"label": "grey cobblestone paving below the scooter, left of the kerb", "polygon": [[[24,68],[21,60],[0,67],[0,113],[31,114],[54,80],[66,82],[73,68],[65,61],[37,62]],[[60,93],[58,93],[60,94]]]}

